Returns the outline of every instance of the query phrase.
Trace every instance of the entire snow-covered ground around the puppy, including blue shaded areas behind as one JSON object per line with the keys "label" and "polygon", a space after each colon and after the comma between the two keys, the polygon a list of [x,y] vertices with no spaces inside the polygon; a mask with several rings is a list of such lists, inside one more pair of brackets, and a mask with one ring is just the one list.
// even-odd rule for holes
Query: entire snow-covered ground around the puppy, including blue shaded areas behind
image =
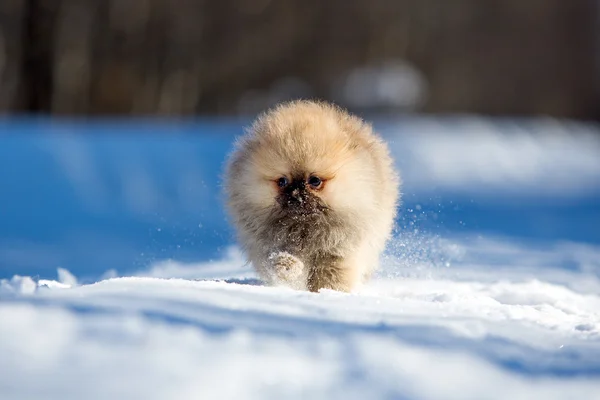
{"label": "entire snow-covered ground around the puppy, including blue shaded areas behind", "polygon": [[0,399],[600,399],[598,132],[382,121],[398,232],[314,294],[230,239],[232,126],[1,126],[34,132],[0,135]]}

